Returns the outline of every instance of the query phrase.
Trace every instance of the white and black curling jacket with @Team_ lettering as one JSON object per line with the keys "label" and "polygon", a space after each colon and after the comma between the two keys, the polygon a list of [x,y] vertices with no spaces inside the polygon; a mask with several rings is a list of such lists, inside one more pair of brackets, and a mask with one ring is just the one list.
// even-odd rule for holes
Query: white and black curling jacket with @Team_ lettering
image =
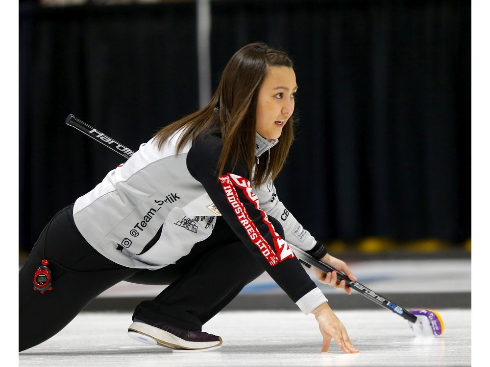
{"label": "white and black curling jacket with @Team_ lettering", "polygon": [[[274,184],[252,189],[245,164],[218,179],[222,139],[198,138],[176,153],[179,137],[177,132],[161,149],[150,139],[75,201],[74,222],[88,243],[123,266],[159,269],[209,237],[222,215],[305,314],[325,302],[288,243],[317,258],[326,252],[281,203]],[[256,157],[276,143],[257,134]],[[269,215],[282,224],[284,239]]]}

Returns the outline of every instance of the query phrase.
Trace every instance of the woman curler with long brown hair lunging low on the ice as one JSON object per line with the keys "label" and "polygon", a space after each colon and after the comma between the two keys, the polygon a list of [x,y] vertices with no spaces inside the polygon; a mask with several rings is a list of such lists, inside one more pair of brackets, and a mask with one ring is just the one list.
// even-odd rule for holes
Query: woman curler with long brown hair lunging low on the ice
{"label": "woman curler with long brown hair lunging low on the ice", "polygon": [[[322,351],[333,338],[345,353],[358,352],[288,243],[355,276],[302,228],[273,185],[294,138],[296,91],[284,52],[244,46],[207,106],[162,128],[58,212],[19,273],[19,350],[55,335],[123,280],[169,284],[136,307],[130,337],[210,350],[222,341],[202,325],[265,270],[306,315],[315,315]],[[52,290],[41,294],[32,281],[43,259]],[[317,276],[351,293],[335,273]],[[40,317],[40,310],[49,313]]]}

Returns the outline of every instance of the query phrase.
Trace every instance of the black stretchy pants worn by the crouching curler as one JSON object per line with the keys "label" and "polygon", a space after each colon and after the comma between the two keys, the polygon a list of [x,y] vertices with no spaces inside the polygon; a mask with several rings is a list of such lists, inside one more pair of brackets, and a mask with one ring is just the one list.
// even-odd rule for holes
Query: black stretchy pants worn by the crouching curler
{"label": "black stretchy pants worn by the crouching curler", "polygon": [[[279,223],[269,218],[282,235]],[[53,289],[44,294],[32,283],[42,259],[49,260],[53,280]],[[126,268],[85,241],[74,225],[73,205],[67,206],[42,231],[19,271],[19,351],[57,334],[90,301],[123,280],[170,284],[153,300],[141,302],[133,319],[141,314],[181,329],[201,330],[263,272],[221,217],[212,235],[175,264],[154,271]]]}

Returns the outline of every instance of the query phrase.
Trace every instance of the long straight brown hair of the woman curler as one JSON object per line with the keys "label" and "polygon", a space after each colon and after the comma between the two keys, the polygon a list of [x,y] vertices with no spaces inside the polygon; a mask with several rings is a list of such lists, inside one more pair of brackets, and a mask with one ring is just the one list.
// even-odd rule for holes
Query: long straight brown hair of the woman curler
{"label": "long straight brown hair of the woman curler", "polygon": [[[255,114],[258,92],[269,67],[293,68],[293,61],[283,51],[264,43],[252,43],[240,48],[228,61],[220,84],[209,103],[191,115],[163,127],[156,134],[158,147],[176,131],[185,127],[176,149],[179,152],[189,139],[207,134],[217,126],[223,139],[223,149],[217,172],[223,173],[226,162],[235,165],[246,162],[248,173],[255,164]],[[218,110],[218,113],[216,113]],[[217,116],[218,115],[218,116]],[[294,119],[291,116],[282,129],[279,142],[270,149],[270,157],[255,167],[253,184],[260,186],[274,180],[281,171],[294,140]]]}

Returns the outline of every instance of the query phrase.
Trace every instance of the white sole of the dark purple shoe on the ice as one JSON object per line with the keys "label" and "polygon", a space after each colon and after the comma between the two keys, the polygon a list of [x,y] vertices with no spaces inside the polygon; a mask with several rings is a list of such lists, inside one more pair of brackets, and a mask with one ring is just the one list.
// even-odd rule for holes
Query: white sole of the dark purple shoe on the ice
{"label": "white sole of the dark purple shoe on the ice", "polygon": [[221,338],[219,342],[189,342],[158,327],[137,321],[129,325],[127,335],[141,343],[160,345],[174,350],[210,350],[220,347],[223,343]]}

